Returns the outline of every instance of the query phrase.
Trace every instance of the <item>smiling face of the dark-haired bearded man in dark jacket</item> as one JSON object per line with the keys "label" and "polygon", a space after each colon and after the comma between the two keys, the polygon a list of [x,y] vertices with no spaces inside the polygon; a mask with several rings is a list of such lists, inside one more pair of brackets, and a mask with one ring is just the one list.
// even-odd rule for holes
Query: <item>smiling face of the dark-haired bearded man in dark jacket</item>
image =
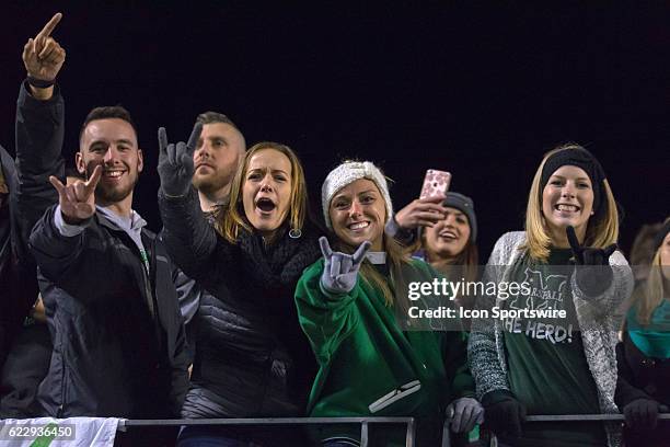
{"label": "smiling face of the dark-haired bearded man in dark jacket", "polygon": [[102,164],[103,174],[95,188],[96,204],[123,204],[129,208],[143,162],[137,136],[128,122],[104,118],[89,123],[81,135],[76,162],[77,170],[86,179]]}

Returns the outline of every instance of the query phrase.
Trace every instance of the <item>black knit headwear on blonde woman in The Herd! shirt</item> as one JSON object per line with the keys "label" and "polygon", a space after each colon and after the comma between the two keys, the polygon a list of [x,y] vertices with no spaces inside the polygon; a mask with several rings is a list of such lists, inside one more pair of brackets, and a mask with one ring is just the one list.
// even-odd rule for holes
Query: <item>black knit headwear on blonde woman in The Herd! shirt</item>
{"label": "black knit headwear on blonde woman in The Herd! shirt", "polygon": [[593,187],[593,214],[600,215],[602,211],[601,205],[604,206],[605,203],[603,200],[603,180],[605,180],[604,171],[596,157],[593,157],[591,152],[581,146],[559,150],[546,159],[544,167],[542,168],[540,191],[544,191],[544,186],[546,186],[546,183],[552,174],[556,172],[558,168],[565,165],[581,168],[588,174]]}

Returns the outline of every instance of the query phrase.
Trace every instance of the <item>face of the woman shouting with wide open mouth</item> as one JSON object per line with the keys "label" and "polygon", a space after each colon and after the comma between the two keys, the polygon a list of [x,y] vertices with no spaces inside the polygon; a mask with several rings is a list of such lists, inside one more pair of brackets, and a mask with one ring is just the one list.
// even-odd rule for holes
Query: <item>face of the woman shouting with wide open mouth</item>
{"label": "face of the woman shouting with wide open mouth", "polygon": [[291,162],[275,149],[262,149],[250,159],[242,185],[249,222],[272,237],[286,219],[291,199]]}

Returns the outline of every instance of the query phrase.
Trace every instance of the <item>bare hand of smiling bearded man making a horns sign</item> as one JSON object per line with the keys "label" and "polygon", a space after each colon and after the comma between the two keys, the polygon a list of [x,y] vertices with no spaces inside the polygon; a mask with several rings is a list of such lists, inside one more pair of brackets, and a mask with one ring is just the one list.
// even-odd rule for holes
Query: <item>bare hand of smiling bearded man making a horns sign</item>
{"label": "bare hand of smiling bearded man making a horns sign", "polygon": [[71,185],[63,185],[54,175],[49,182],[58,191],[60,213],[66,224],[78,225],[95,214],[95,186],[102,176],[102,165],[95,167],[93,174],[86,182],[81,180]]}

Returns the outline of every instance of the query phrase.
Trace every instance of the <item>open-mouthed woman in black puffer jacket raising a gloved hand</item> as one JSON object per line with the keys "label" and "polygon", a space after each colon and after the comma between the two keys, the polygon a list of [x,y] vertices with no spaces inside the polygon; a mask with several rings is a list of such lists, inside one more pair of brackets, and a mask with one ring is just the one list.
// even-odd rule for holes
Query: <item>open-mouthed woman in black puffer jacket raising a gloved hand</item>
{"label": "open-mouthed woman in black puffer jacket raising a gloved hand", "polygon": [[[197,123],[188,144],[176,145],[159,130],[163,238],[174,262],[211,293],[199,305],[196,359],[182,416],[302,415],[315,362],[292,297],[303,268],[319,256],[302,167],[284,145],[252,147],[215,229],[190,186],[200,129]],[[180,438],[181,446],[299,445],[259,429],[187,427]]]}

